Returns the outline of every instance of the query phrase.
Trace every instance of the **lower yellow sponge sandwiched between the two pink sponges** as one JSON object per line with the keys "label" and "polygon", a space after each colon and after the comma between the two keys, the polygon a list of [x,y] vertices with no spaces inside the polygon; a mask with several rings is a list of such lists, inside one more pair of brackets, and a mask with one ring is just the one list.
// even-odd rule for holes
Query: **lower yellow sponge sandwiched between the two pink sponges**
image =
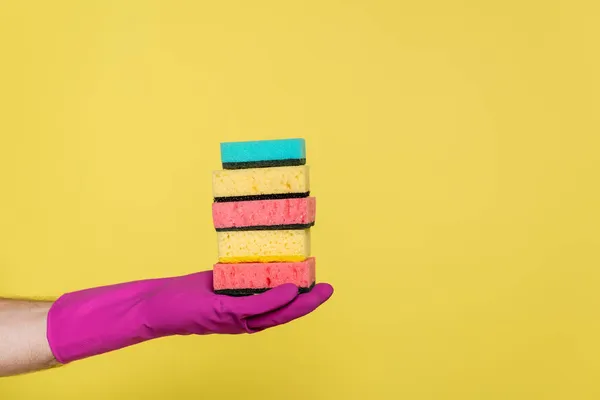
{"label": "lower yellow sponge sandwiched between the two pink sponges", "polygon": [[310,229],[217,232],[219,262],[299,262],[310,256]]}

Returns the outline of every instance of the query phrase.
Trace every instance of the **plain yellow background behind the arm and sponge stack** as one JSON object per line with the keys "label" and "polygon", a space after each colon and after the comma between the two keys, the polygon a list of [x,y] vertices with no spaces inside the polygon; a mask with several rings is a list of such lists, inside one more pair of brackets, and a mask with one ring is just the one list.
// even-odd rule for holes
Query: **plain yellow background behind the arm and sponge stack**
{"label": "plain yellow background behind the arm and sponge stack", "polygon": [[0,294],[211,268],[219,142],[297,136],[336,289],[0,397],[599,398],[593,3],[0,2]]}

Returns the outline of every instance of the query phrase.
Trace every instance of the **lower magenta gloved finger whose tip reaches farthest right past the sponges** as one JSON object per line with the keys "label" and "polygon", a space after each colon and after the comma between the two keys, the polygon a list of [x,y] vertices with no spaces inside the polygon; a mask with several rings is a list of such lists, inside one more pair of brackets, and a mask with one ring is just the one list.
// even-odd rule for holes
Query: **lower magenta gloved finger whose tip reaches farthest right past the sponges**
{"label": "lower magenta gloved finger whose tip reaches farthest right past the sponges", "polygon": [[333,287],[319,283],[308,293],[296,297],[290,304],[263,315],[248,318],[246,325],[250,331],[258,332],[266,328],[286,324],[313,312],[333,295]]}

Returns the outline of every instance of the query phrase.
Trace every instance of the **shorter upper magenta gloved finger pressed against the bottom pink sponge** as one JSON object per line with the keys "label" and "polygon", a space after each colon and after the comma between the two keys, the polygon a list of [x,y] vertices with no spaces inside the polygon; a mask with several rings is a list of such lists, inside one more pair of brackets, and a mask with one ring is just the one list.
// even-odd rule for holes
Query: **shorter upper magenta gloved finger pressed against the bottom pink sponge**
{"label": "shorter upper magenta gloved finger pressed against the bottom pink sponge", "polygon": [[285,306],[298,296],[298,287],[286,283],[261,294],[232,297],[228,300],[231,310],[242,318],[268,313]]}

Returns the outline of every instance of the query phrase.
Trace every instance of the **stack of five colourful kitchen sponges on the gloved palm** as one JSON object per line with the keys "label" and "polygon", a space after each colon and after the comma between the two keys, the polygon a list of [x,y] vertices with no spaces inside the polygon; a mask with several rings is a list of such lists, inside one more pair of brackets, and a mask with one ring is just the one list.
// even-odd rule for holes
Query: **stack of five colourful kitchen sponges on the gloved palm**
{"label": "stack of five colourful kitchen sponges on the gloved palm", "polygon": [[246,296],[284,283],[310,291],[316,199],[310,196],[305,141],[221,143],[221,164],[213,172],[215,293]]}

